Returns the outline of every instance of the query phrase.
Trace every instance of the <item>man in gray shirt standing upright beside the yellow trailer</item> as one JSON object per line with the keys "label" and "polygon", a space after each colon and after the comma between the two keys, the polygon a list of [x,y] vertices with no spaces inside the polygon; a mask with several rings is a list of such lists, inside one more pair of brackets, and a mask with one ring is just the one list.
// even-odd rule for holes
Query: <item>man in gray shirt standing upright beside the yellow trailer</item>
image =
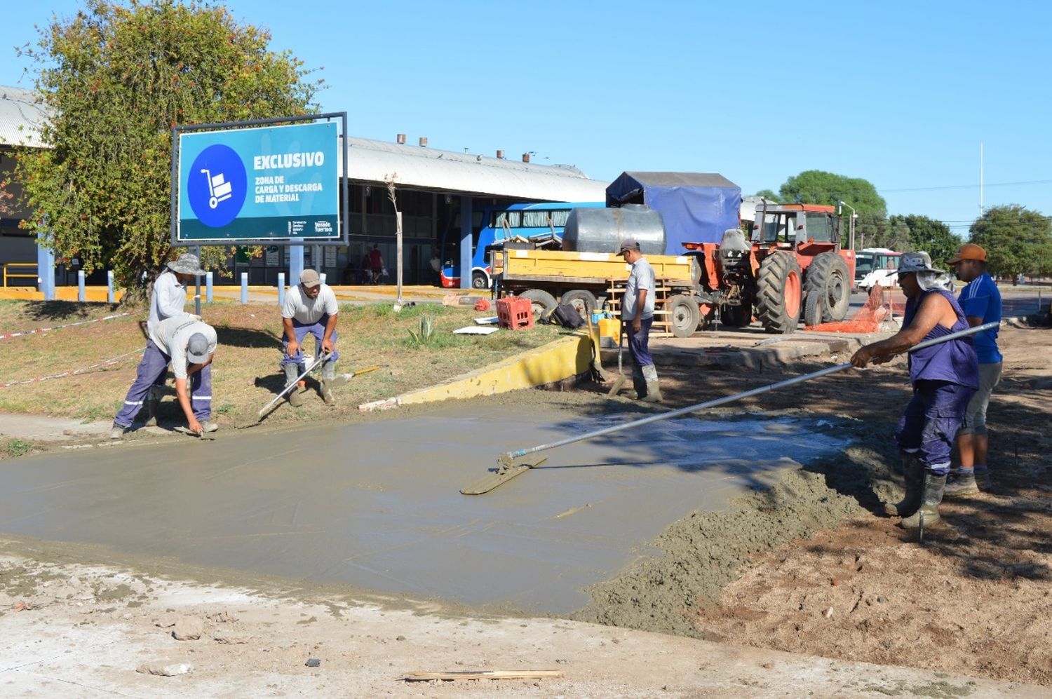
{"label": "man in gray shirt standing upright beside the yellow trailer", "polygon": [[628,353],[632,357],[632,386],[635,398],[647,403],[661,402],[658,369],[650,356],[650,326],[654,320],[654,269],[640,251],[634,238],[621,242],[618,254],[631,265],[625,296],[621,302],[621,322],[628,336]]}

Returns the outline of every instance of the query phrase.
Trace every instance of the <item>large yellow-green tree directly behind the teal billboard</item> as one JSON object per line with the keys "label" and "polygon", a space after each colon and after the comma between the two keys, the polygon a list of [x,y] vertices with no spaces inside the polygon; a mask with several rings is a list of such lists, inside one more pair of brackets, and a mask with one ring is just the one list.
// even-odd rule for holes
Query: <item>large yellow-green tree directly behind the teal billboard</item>
{"label": "large yellow-green tree directly behind the teal billboard", "polygon": [[[37,46],[48,147],[18,153],[25,227],[133,286],[171,255],[171,127],[309,114],[321,81],[270,35],[198,0],[87,0]],[[226,248],[205,248],[216,265]]]}

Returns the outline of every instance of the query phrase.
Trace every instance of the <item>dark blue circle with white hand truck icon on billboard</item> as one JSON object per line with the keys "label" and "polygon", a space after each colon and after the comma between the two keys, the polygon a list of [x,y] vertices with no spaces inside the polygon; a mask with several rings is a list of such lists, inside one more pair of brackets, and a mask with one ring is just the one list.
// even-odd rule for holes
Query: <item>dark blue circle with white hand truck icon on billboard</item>
{"label": "dark blue circle with white hand truck icon on billboard", "polygon": [[248,177],[241,158],[221,143],[202,150],[187,172],[190,208],[198,221],[210,228],[221,228],[237,219],[247,191]]}

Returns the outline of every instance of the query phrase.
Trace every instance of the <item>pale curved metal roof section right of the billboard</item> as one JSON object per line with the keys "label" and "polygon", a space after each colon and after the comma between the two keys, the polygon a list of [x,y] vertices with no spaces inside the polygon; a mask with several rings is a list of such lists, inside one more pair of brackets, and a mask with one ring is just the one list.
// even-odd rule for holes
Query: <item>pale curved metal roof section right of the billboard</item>
{"label": "pale curved metal roof section right of the billboard", "polygon": [[347,139],[347,177],[401,187],[552,202],[602,202],[607,182],[568,165],[535,165],[476,153],[369,139]]}

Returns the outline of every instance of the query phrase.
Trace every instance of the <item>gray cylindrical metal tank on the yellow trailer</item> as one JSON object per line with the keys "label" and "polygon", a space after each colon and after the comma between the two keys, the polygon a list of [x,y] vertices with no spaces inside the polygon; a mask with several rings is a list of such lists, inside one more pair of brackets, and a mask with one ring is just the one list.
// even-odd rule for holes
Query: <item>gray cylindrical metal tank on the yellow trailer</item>
{"label": "gray cylindrical metal tank on the yellow trailer", "polygon": [[616,252],[621,241],[634,238],[643,254],[665,254],[665,222],[646,204],[616,209],[572,209],[563,229],[563,249],[571,252]]}

